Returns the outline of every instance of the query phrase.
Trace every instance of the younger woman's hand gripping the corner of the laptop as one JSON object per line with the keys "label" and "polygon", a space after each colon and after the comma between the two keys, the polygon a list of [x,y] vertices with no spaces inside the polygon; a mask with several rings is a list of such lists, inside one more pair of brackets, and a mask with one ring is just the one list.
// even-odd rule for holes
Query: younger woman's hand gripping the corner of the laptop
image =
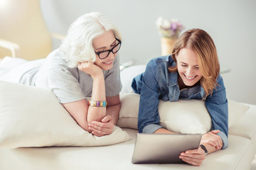
{"label": "younger woman's hand gripping the corner of the laptop", "polygon": [[187,150],[186,152],[181,152],[179,158],[182,159],[183,162],[193,166],[200,166],[206,156],[204,150],[201,147],[198,147],[198,149],[191,149]]}

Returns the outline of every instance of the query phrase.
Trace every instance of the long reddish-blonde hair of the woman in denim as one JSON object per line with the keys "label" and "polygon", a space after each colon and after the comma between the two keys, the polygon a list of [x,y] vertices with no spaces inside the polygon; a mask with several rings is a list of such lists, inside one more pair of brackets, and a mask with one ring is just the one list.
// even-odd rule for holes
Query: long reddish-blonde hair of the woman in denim
{"label": "long reddish-blonde hair of the woman in denim", "polygon": [[[172,58],[176,63],[176,56],[182,48],[191,49],[196,53],[199,70],[203,76],[200,83],[206,92],[203,98],[206,98],[209,94],[213,94],[213,89],[218,86],[217,77],[220,73],[220,63],[213,39],[210,38],[210,35],[204,30],[187,30],[174,44]],[[177,72],[177,66],[169,67],[168,69],[170,72]]]}

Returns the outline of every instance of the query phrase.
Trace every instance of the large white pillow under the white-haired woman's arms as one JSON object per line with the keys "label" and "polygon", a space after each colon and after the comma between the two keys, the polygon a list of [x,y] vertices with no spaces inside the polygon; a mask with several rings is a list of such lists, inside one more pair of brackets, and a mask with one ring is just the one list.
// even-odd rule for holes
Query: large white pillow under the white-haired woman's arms
{"label": "large white pillow under the white-haired woman's arms", "polygon": [[115,126],[96,137],[80,128],[47,89],[0,81],[0,148],[100,146],[129,140]]}

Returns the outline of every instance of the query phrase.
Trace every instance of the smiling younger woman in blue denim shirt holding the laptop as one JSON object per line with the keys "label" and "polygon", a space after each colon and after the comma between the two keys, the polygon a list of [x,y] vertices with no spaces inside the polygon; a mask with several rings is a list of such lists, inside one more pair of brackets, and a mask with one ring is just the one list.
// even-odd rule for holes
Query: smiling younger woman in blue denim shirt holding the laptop
{"label": "smiling younger woman in blue denim shirt holding the laptop", "polygon": [[144,73],[132,81],[140,94],[139,132],[174,133],[159,125],[159,100],[198,99],[206,102],[212,130],[203,135],[198,149],[182,152],[180,159],[200,166],[205,153],[228,147],[228,101],[220,64],[210,35],[201,29],[183,33],[172,55],[151,60]]}

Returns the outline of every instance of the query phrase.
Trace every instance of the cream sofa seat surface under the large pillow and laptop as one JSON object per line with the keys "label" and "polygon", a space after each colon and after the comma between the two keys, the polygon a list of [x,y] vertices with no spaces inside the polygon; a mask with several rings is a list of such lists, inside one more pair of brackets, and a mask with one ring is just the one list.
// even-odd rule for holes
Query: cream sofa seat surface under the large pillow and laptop
{"label": "cream sofa seat surface under the large pillow and laptop", "polygon": [[[150,169],[250,169],[251,144],[244,137],[230,135],[227,149],[208,154],[201,166],[188,164],[132,164],[137,130],[124,129],[132,140],[107,147],[43,147],[0,149],[0,169],[26,170],[150,170]],[[15,162],[15,163],[14,163]]]}

